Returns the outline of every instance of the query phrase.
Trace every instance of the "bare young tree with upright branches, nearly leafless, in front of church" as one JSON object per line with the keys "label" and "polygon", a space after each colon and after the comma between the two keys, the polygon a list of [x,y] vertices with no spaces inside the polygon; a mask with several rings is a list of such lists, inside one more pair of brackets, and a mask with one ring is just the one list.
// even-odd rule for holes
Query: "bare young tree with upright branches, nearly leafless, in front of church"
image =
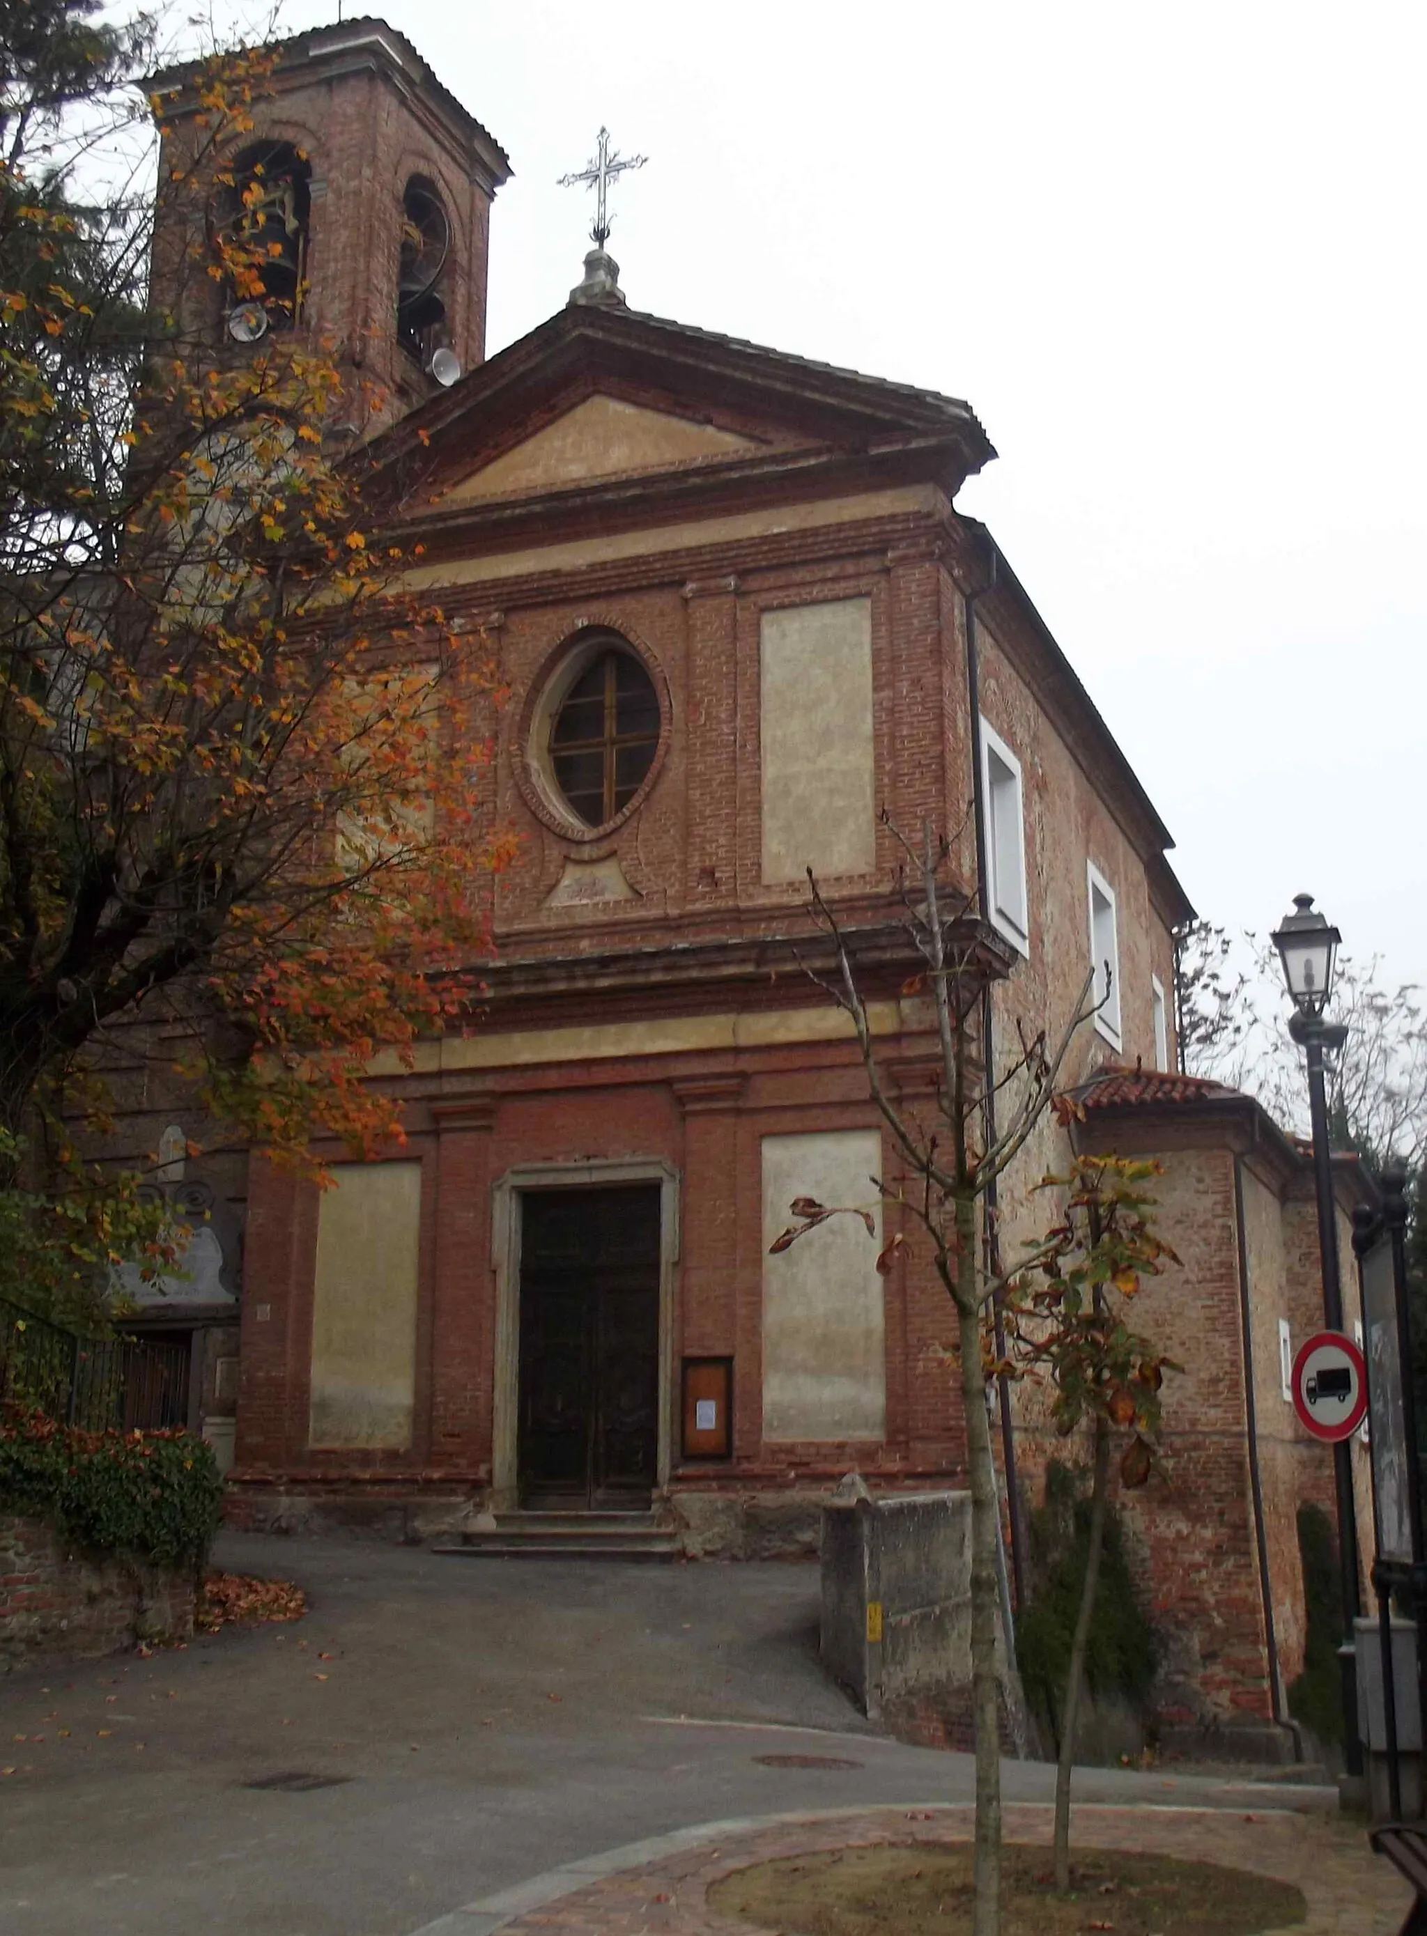
{"label": "bare young tree with upright branches, nearly leafless, in front of church", "polygon": [[[873,1177],[883,1202],[900,1208],[924,1231],[941,1284],[956,1313],[956,1357],[966,1423],[966,1464],[972,1495],[972,1719],[976,1735],[976,1909],[974,1936],[997,1936],[1001,1926],[1001,1739],[997,1675],[997,1541],[1001,1539],[997,1477],[991,1458],[991,1423],[986,1406],[987,1378],[1001,1369],[993,1349],[991,1313],[1009,1282],[1034,1268],[1040,1249],[1032,1247],[1015,1268],[997,1276],[980,1243],[986,1196],[995,1179],[1015,1164],[1036,1125],[1057,1094],[1061,1069],[1077,1030],[1094,1014],[1094,974],[1086,976],[1075,1009],[1059,1030],[1018,1032],[1011,1065],[984,1069],[980,1040],[982,995],[987,980],[1005,976],[1009,953],[999,937],[976,918],[976,894],[955,885],[953,842],[922,832],[914,846],[883,813],[883,825],[898,840],[904,862],[898,875],[902,904],[900,929],[910,958],[920,962],[908,993],[926,991],[935,1016],[941,1069],[935,1105],[926,1113],[893,1098],[881,1067],[867,999],[858,970],[856,937],[844,931],[823,896],[811,869],[807,873],[811,912],[833,945],[831,972],[807,974],[850,1016],[862,1049],[871,1102],[887,1123],[896,1173]],[[995,1123],[995,1134],[987,1125]],[[819,1204],[800,1196],[792,1204],[798,1220],[773,1249],[784,1251],[809,1229],[844,1206]],[[898,1231],[879,1258],[904,1243]],[[1055,1241],[1044,1256],[1055,1255]]]}

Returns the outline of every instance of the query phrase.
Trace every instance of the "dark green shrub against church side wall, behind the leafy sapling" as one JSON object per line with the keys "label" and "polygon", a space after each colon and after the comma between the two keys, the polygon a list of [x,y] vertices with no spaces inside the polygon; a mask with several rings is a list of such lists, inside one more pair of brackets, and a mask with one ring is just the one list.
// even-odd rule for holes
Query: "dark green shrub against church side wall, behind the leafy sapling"
{"label": "dark green shrub against church side wall, behind the leafy sapling", "polygon": [[[1088,1487],[1078,1471],[1051,1460],[1046,1467],[1046,1502],[1030,1516],[1034,1588],[1017,1620],[1017,1659],[1026,1700],[1051,1721],[1053,1733],[1065,1700],[1088,1558]],[[1106,1514],[1106,1543],[1086,1649],[1084,1671],[1090,1692],[1119,1696],[1139,1708],[1148,1698],[1158,1659],[1158,1638],[1135,1597],[1119,1514],[1111,1506]]]}

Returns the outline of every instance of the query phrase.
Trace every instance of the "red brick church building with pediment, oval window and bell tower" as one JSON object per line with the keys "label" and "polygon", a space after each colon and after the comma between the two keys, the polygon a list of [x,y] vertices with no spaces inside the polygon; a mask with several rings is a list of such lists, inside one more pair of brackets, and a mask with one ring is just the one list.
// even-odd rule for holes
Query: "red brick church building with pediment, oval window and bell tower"
{"label": "red brick church building with pediment, oval window and bell tower", "polygon": [[[1321,1311],[1311,1175],[1257,1104],[1173,1074],[1193,910],[1144,784],[956,509],[995,457],[982,424],[641,314],[600,248],[486,358],[500,145],[380,19],[283,43],[271,85],[256,139],[269,180],[288,168],[304,319],[385,387],[378,488],[420,581],[500,656],[509,699],[471,730],[494,736],[482,811],[519,854],[490,879],[480,1013],[372,1071],[403,1146],[325,1152],[327,1191],[188,1165],[240,1239],[201,1309],[180,1282],[145,1322],[203,1340],[196,1423],[232,1446],[234,1516],[519,1539],[546,1510],[587,1543],[614,1526],[738,1557],[805,1551],[852,1467],[873,1491],[956,1485],[955,1326],[914,1233],[889,1276],[852,1220],[769,1241],[800,1195],[883,1224],[856,1044],[800,964],[807,869],[914,1094],[937,1044],[883,813],[964,829],[993,1059],[1113,962],[1073,1051],[1077,1134],[1166,1162],[1185,1260],[1146,1311],[1185,1365],[1171,1479],[1127,1508],[1168,1636],[1160,1711],[1262,1750],[1303,1653],[1295,1504],[1332,1493],[1280,1373]],[[186,110],[176,79],[165,116]],[[1007,1255],[1065,1156],[1047,1119],[1003,1191]],[[1344,1169],[1344,1229],[1355,1189]],[[1009,1425],[1024,1508],[1047,1442],[1030,1411]]]}

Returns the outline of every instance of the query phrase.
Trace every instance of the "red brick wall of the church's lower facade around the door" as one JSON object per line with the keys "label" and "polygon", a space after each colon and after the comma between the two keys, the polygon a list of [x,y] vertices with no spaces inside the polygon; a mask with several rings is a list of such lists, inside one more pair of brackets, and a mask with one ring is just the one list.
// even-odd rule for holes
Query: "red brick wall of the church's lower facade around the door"
{"label": "red brick wall of the church's lower facade around the door", "polygon": [[[891,1038],[889,1059],[922,1038]],[[672,1357],[734,1355],[734,1464],[683,1466],[672,1489],[823,1485],[850,1464],[893,1479],[964,1471],[951,1305],[918,1247],[883,1280],[883,1444],[763,1444],[761,1138],[871,1129],[865,1076],[848,1044],[732,1053],[612,1057],[550,1069],[482,1071],[465,1096],[409,1078],[409,1142],[426,1167],[416,1431],[409,1452],[310,1452],[308,1378],[318,1191],[254,1165],[242,1316],[238,1467],[292,1485],[465,1487],[492,1479],[496,1276],[492,1183],[538,1164],[662,1162],[680,1177]],[[426,1094],[422,1094],[426,1090]]]}

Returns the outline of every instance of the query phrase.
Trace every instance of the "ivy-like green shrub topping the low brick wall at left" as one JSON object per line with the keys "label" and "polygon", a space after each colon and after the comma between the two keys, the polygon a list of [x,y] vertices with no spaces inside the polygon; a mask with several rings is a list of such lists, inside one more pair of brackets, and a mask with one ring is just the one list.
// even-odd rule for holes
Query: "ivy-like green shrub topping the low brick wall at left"
{"label": "ivy-like green shrub topping the low brick wall at left", "polygon": [[197,1568],[221,1498],[213,1448],[194,1433],[83,1433],[0,1407],[0,1512],[45,1520],[77,1545]]}

